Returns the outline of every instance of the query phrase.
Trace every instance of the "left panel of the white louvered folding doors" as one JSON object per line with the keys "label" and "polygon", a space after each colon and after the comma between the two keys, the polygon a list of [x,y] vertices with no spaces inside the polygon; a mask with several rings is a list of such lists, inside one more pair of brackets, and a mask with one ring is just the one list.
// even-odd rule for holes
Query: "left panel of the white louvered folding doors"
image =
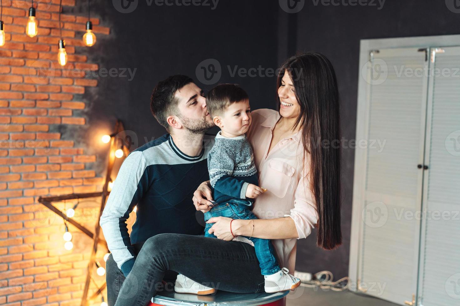
{"label": "left panel of the white louvered folding doors", "polygon": [[[417,290],[428,62],[418,48],[370,52],[358,278],[369,295],[402,304]],[[372,145],[374,144],[374,145]],[[380,144],[380,145],[379,145]]]}

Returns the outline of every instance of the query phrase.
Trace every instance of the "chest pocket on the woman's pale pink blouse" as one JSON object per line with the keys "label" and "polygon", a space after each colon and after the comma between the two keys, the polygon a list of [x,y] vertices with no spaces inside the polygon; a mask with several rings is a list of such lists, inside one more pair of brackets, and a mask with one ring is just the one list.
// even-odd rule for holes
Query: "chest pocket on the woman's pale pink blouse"
{"label": "chest pocket on the woman's pale pink blouse", "polygon": [[284,161],[272,159],[269,161],[265,173],[261,173],[260,187],[266,188],[278,198],[283,198],[294,172],[295,168]]}

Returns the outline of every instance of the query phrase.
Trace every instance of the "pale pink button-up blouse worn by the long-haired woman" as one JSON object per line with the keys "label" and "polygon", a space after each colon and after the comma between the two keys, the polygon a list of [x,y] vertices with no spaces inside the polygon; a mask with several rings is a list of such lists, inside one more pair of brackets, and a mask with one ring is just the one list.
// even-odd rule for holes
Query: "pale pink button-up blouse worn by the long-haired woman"
{"label": "pale pink button-up blouse worn by the long-haired woman", "polygon": [[[267,154],[280,114],[270,109],[251,114],[253,121],[246,135],[253,147],[259,186],[267,189],[255,200],[253,212],[259,219],[291,217],[298,239],[305,238],[311,234],[318,215],[309,188],[308,156],[303,161],[301,134],[281,139]],[[272,240],[272,243],[281,267],[293,272],[297,239]]]}

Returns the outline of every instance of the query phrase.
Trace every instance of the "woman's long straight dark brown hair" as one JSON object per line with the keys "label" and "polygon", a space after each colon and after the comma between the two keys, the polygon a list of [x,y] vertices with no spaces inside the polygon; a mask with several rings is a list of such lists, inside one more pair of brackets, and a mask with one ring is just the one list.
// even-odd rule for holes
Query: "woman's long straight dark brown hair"
{"label": "woman's long straight dark brown hair", "polygon": [[[333,250],[342,244],[340,229],[340,128],[339,93],[334,67],[320,53],[292,56],[281,67],[277,88],[288,72],[294,85],[300,114],[298,126],[304,161],[310,158],[310,186],[318,212],[316,245]],[[278,111],[280,101],[278,97]],[[305,163],[304,163],[305,164]]]}

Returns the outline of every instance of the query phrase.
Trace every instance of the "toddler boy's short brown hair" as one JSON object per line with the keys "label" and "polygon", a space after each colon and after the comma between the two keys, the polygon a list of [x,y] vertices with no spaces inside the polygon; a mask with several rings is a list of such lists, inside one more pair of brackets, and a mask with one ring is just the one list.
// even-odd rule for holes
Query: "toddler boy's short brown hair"
{"label": "toddler boy's short brown hair", "polygon": [[207,111],[211,117],[220,116],[230,104],[248,100],[246,91],[238,84],[219,84],[206,96]]}

